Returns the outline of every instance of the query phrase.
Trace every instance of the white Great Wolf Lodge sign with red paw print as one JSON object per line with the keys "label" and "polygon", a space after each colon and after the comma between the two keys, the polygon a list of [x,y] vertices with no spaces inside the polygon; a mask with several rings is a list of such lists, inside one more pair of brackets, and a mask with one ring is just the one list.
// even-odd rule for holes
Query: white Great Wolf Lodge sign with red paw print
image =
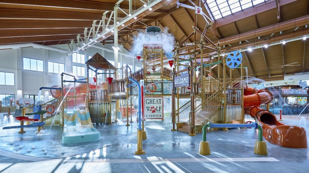
{"label": "white Great Wolf Lodge sign with red paw print", "polygon": [[163,119],[163,97],[144,97],[145,119]]}

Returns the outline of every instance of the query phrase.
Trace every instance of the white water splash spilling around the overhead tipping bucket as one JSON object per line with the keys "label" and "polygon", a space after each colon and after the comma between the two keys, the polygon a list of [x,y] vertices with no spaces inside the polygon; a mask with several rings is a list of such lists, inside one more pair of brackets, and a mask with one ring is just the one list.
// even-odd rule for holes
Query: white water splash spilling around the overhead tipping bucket
{"label": "white water splash spilling around the overhead tipping bucket", "polygon": [[137,35],[133,36],[133,48],[130,53],[133,55],[142,54],[143,45],[163,46],[163,50],[171,52],[174,49],[175,37],[173,34],[168,32],[168,28],[164,27],[160,34],[149,34],[145,31],[138,32]]}

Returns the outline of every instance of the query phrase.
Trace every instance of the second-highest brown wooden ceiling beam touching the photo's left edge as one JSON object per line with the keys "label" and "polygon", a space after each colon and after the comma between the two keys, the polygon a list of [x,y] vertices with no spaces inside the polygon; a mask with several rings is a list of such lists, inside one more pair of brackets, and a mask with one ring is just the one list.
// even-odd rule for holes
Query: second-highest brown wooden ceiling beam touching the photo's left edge
{"label": "second-highest brown wooden ceiling beam touching the photo's left edge", "polygon": [[[91,28],[92,22],[2,21],[0,29]],[[17,32],[17,31],[16,31]]]}

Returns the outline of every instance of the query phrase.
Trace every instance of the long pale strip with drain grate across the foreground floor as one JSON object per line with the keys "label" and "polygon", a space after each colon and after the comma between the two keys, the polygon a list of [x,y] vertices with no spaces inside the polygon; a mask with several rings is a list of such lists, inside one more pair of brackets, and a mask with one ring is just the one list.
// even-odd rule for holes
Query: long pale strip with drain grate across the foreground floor
{"label": "long pale strip with drain grate across the foreground floor", "polygon": [[149,159],[70,159],[68,162],[83,163],[164,163],[164,162],[279,162],[273,157],[227,157],[227,158],[149,158]]}

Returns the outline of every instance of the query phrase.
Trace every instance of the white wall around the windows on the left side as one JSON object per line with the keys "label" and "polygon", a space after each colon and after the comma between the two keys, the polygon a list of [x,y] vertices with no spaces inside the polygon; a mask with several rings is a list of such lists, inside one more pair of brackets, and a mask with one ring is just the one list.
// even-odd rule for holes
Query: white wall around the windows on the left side
{"label": "white wall around the windows on the left side", "polygon": [[[112,49],[112,46],[113,44],[104,45],[104,47],[110,49]],[[55,45],[53,47],[68,50],[67,45]],[[121,52],[128,53],[123,46],[120,45],[119,47],[121,48]],[[96,53],[101,54],[107,60],[115,61],[114,52],[98,48],[90,47],[79,53],[86,55],[86,61],[88,60],[88,56],[93,56]],[[23,57],[43,60],[44,72],[23,70]],[[19,100],[23,95],[38,95],[39,89],[42,86],[52,87],[54,85],[61,85],[60,74],[48,73],[48,61],[65,64],[66,73],[72,72],[72,65],[80,65],[72,63],[71,56],[68,57],[67,54],[55,50],[38,49],[33,47],[0,50],[0,71],[15,74],[15,86],[0,85],[0,94],[14,94],[15,100]],[[126,58],[124,55],[120,54],[118,56],[118,61],[121,62],[121,65],[123,63],[133,65],[134,70],[135,65],[142,66],[142,63],[138,62],[136,58]],[[21,90],[21,92],[18,92],[18,90]],[[47,92],[45,91],[49,92],[49,90],[42,91],[42,95],[45,95],[46,97]]]}

